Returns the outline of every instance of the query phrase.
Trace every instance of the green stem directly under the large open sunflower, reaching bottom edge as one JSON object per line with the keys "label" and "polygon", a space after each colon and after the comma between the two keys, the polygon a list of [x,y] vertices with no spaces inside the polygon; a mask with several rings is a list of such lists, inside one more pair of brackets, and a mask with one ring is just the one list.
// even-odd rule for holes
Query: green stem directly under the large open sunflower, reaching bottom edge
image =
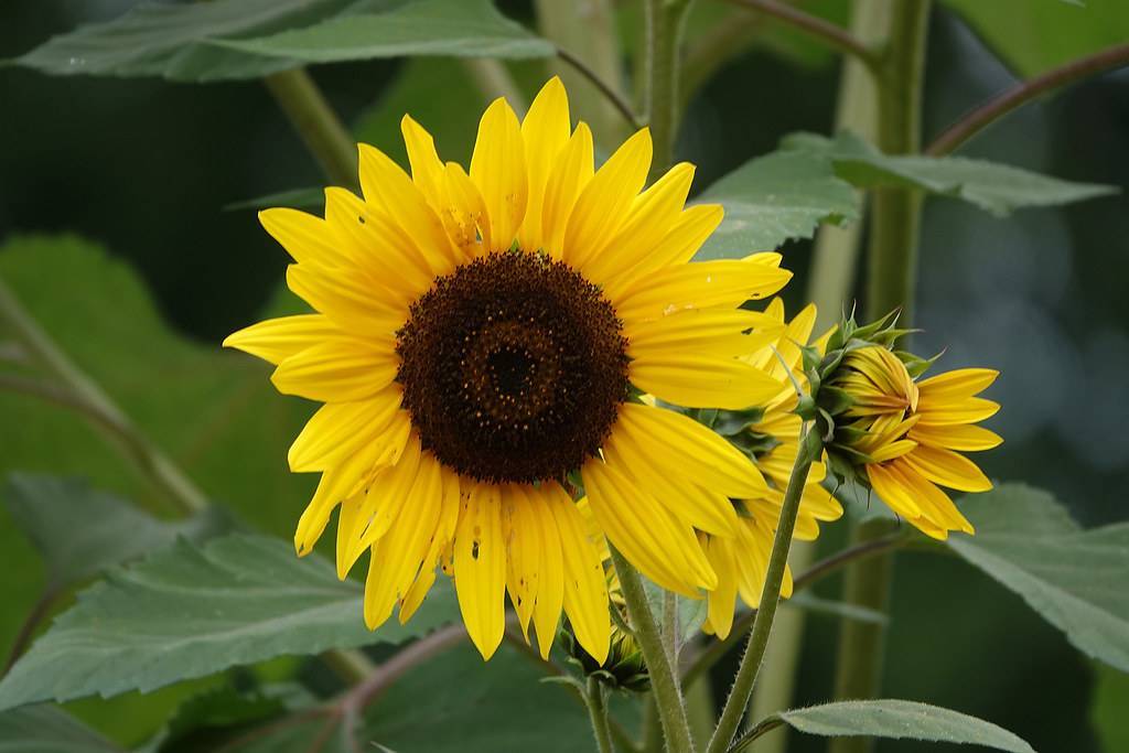
{"label": "green stem directly under the large open sunflower, reaching bottom edge", "polygon": [[663,734],[666,736],[666,750],[668,753],[692,752],[694,745],[690,737],[686,710],[682,703],[682,690],[666,655],[655,615],[647,604],[642,579],[615,546],[609,545],[609,549],[612,562],[615,564],[615,573],[620,578],[623,601],[628,605],[631,628],[634,630],[636,640],[639,641],[639,649],[650,674],[651,695],[655,698]]}

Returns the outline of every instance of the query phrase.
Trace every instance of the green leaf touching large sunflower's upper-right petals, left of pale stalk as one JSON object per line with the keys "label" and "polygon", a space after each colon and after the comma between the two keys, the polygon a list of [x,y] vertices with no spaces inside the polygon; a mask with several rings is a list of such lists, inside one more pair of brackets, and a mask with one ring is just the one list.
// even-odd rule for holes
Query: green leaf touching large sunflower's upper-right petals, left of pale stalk
{"label": "green leaf touching large sunflower's upper-right petals, left of pale stalk", "polygon": [[699,199],[725,205],[725,220],[698,252],[699,261],[739,259],[811,238],[820,222],[858,218],[850,185],[820,155],[772,152],[715,183]]}

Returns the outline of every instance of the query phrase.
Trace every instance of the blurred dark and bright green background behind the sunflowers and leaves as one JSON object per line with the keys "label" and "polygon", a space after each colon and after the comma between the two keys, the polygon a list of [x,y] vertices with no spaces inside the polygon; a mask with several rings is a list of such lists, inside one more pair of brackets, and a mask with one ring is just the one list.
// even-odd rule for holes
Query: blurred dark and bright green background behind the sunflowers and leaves
{"label": "blurred dark and bright green background behind the sunflowers and leaves", "polygon": [[[996,21],[1005,28],[995,36],[983,27],[992,10],[969,15],[962,11],[977,3],[955,1],[936,8],[926,143],[1018,78],[1129,38],[1129,12],[1115,8],[1120,0],[1091,2],[1105,20],[1089,27],[1069,26],[1075,20],[1068,14],[1079,9],[1027,2],[1045,11],[1045,23],[1007,27],[1001,11]],[[0,58],[132,5],[6,0]],[[637,5],[620,3],[628,58],[641,20]],[[806,5],[839,23],[849,15],[846,0]],[[499,7],[536,23],[528,2]],[[718,11],[703,12],[706,28]],[[1111,28],[1111,18],[1120,27]],[[1062,29],[1067,38],[1051,42],[1047,29]],[[1001,43],[1001,33],[1010,42]],[[1084,33],[1094,38],[1071,37]],[[544,61],[510,68],[527,93],[548,75]],[[695,190],[774,149],[787,133],[830,132],[839,68],[837,55],[777,25],[751,35],[690,100],[676,156],[699,165]],[[313,72],[358,139],[402,157],[399,119],[410,112],[436,132],[445,158],[467,159],[487,96],[463,63],[376,61]],[[322,182],[286,119],[253,82],[52,78],[17,68],[0,69],[0,275],[209,494],[253,525],[289,537],[312,480],[286,473],[285,448],[309,409],[271,394],[260,365],[221,353],[218,344],[264,309],[289,305],[279,294],[286,254],[253,211],[229,208]],[[960,154],[1123,189],[1129,70],[1027,105]],[[811,244],[784,251],[797,272],[786,296],[793,310],[803,303]],[[1123,193],[1008,218],[952,200],[927,203],[918,349],[947,349],[946,369],[1003,371],[989,396],[1004,409],[989,426],[1006,443],[978,461],[994,478],[1052,490],[1085,526],[1129,517],[1127,278]],[[103,488],[151,497],[72,415],[0,394],[0,472],[12,470],[85,475]],[[43,578],[6,516],[0,506],[5,653]],[[830,550],[843,528],[828,528],[821,545]],[[822,590],[833,597],[837,585]],[[831,691],[837,624],[812,618],[807,625],[797,704]],[[981,674],[986,665],[991,672]],[[719,683],[730,669],[718,669]],[[1129,750],[1127,678],[1092,664],[1019,597],[954,560],[900,557],[885,685],[892,698],[990,719],[1040,751]],[[139,739],[181,692],[73,707],[119,738]],[[796,751],[823,747],[819,738],[797,736],[793,744]],[[918,746],[885,743],[879,750]]]}

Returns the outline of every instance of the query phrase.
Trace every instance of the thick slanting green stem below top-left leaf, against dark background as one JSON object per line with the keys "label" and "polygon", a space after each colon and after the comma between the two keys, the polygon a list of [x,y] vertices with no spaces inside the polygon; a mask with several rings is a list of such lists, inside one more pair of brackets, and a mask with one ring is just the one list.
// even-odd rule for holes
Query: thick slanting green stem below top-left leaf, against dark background
{"label": "thick slanting green stem below top-left leaf, against dark background", "polygon": [[330,181],[356,187],[357,143],[306,69],[272,73],[263,84]]}

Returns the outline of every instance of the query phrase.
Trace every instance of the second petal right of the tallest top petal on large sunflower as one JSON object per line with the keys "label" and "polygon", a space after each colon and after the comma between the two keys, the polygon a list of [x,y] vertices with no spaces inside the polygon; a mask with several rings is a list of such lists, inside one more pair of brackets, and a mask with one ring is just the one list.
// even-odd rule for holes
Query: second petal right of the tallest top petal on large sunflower
{"label": "second petal right of the tallest top petal on large sunflower", "polygon": [[642,129],[588,181],[564,230],[563,259],[569,265],[584,269],[607,247],[647,180],[650,157],[650,131]]}

